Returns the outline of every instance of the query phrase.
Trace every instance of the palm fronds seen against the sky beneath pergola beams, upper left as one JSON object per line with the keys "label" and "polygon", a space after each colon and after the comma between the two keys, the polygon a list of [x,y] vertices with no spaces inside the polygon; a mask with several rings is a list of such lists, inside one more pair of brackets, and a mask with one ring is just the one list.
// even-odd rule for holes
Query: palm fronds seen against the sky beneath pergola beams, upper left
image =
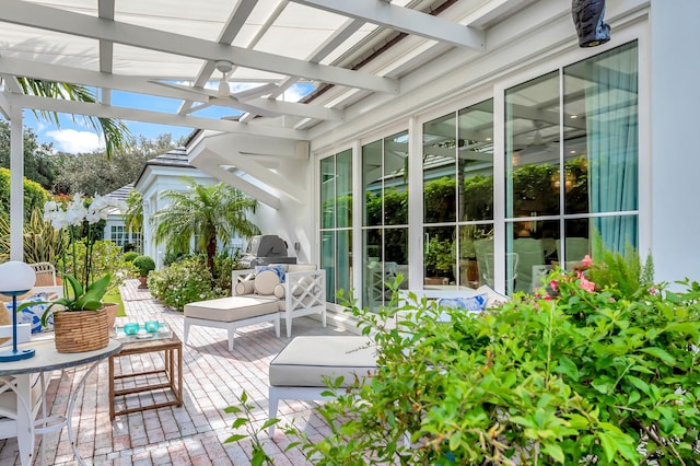
{"label": "palm fronds seen against the sky beneath pergola beams, upper left", "polygon": [[[86,102],[94,104],[97,102],[95,94],[84,85],[71,84],[66,82],[45,81],[34,78],[18,77],[18,83],[22,88],[22,92],[27,95],[37,95],[49,98],[65,98],[77,102]],[[32,112],[45,120],[60,126],[58,114],[56,112],[36,110]],[[74,118],[74,117],[73,117]],[[85,116],[85,121],[97,132],[105,137],[105,153],[109,159],[115,151],[127,150],[132,145],[132,137],[129,128],[124,121],[116,118],[100,118],[94,116]]]}

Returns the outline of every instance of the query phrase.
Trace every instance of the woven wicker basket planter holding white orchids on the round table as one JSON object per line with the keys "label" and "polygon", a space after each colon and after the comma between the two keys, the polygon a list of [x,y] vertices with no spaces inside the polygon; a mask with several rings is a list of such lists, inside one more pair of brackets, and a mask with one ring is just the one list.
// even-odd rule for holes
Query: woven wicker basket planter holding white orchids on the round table
{"label": "woven wicker basket planter holding white orchids on the round table", "polygon": [[58,352],[93,351],[109,343],[107,311],[61,311],[54,314]]}

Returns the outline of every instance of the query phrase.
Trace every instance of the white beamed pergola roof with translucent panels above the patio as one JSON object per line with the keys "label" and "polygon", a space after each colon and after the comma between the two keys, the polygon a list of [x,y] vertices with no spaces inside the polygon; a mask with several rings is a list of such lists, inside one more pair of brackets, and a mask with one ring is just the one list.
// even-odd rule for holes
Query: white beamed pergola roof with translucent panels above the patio
{"label": "white beamed pergola roof with translucent panels above the patio", "polygon": [[[570,2],[2,0],[0,112],[12,123],[11,257],[22,258],[23,109],[273,138],[298,150],[306,142],[307,155],[314,135],[430,83],[430,72],[416,70],[434,63],[432,72],[444,73],[516,39],[518,31],[498,27],[515,14],[524,31],[570,14]],[[222,93],[220,70],[228,84],[253,89]],[[94,88],[98,103],[25,95],[16,77]],[[285,101],[298,83],[314,90]],[[115,91],[176,100],[179,108],[113,105]],[[231,116],[197,115],[210,106]],[[222,168],[226,176],[231,171]]]}

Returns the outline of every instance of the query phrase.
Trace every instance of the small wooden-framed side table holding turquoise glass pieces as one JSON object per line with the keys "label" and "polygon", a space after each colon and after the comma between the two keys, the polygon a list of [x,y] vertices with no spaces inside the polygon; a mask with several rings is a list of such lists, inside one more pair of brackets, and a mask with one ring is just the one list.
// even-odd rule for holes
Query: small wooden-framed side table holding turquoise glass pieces
{"label": "small wooden-framed side table holding turquoise glass pieces", "polygon": [[[152,371],[133,372],[128,374],[114,373],[115,358],[129,357],[133,354],[144,354],[163,351],[163,368]],[[159,382],[140,385],[133,388],[115,389],[117,380],[137,377],[140,375],[159,374]],[[162,382],[165,380],[164,382]],[[175,399],[155,403],[153,405],[140,406],[138,408],[115,409],[115,398],[135,393],[154,392],[170,389]],[[170,338],[152,340],[125,341],[121,352],[109,358],[109,419],[117,415],[128,415],[129,412],[144,411],[147,409],[158,409],[165,406],[183,406],[183,343],[175,334]]]}

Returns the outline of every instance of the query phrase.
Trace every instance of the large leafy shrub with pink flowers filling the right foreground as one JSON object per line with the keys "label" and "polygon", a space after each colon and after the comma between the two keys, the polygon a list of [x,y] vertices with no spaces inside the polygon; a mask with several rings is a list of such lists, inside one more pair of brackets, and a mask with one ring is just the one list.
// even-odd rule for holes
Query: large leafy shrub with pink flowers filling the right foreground
{"label": "large leafy shrub with pink flowers filling the right foreground", "polygon": [[[479,316],[415,296],[378,313],[353,307],[378,370],[318,408],[330,434],[291,430],[307,458],[698,464],[700,284],[625,296],[559,270],[549,283],[556,296],[518,294]],[[415,321],[385,326],[399,311]]]}

